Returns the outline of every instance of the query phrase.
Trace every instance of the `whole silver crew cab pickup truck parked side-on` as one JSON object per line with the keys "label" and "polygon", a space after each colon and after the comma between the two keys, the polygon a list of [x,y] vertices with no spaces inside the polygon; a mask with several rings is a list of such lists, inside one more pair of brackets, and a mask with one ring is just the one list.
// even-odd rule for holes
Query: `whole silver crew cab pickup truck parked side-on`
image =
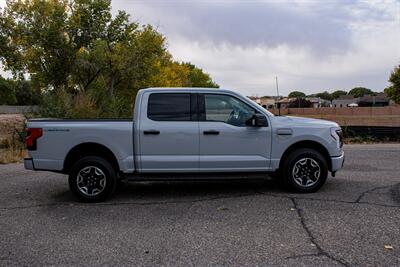
{"label": "whole silver crew cab pickup truck parked side-on", "polygon": [[132,120],[33,119],[25,168],[69,175],[71,191],[103,201],[119,180],[277,177],[315,192],[344,162],[334,122],[274,116],[223,89],[149,88]]}

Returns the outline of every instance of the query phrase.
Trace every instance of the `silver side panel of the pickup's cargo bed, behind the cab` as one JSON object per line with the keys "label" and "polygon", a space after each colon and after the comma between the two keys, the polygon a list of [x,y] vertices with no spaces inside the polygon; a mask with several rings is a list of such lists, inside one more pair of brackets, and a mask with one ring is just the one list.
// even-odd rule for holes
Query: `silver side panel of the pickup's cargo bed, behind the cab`
{"label": "silver side panel of the pickup's cargo bed, behind the cab", "polygon": [[35,169],[62,171],[65,158],[80,144],[99,143],[113,151],[120,170],[134,171],[132,119],[32,119],[28,128],[41,128],[37,150],[29,151]]}

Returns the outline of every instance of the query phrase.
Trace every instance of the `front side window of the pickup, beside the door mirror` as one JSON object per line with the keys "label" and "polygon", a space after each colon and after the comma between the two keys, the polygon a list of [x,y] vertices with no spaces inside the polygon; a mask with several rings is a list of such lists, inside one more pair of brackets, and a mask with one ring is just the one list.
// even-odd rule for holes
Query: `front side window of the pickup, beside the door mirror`
{"label": "front side window of the pickup, beside the door mirror", "polygon": [[239,127],[246,126],[246,121],[256,113],[252,107],[229,95],[205,94],[204,104],[206,121],[221,121]]}

